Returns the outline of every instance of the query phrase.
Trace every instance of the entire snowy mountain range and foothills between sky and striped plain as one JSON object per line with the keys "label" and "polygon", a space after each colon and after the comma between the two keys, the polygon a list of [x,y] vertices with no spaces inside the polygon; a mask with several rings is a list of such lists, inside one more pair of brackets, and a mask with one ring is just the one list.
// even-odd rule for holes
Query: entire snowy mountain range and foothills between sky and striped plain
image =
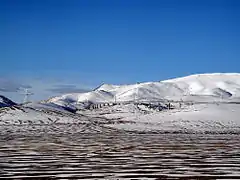
{"label": "entire snowy mountain range and foothills between sky and striped plain", "polygon": [[[166,99],[181,102],[171,102],[171,106],[165,102],[131,103]],[[89,103],[115,101],[128,103],[85,108]],[[1,102],[15,105],[5,97]],[[103,84],[87,93],[65,94],[40,103],[1,108],[0,132],[240,133],[239,109],[240,74],[199,74],[132,85]]]}

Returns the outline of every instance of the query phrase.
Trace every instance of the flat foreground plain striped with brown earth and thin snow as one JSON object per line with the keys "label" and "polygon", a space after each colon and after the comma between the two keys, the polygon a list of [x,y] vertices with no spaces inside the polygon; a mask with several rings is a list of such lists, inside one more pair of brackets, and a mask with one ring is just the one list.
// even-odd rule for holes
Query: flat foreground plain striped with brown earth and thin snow
{"label": "flat foreground plain striped with brown earth and thin snow", "polygon": [[0,179],[239,179],[239,135],[0,136]]}

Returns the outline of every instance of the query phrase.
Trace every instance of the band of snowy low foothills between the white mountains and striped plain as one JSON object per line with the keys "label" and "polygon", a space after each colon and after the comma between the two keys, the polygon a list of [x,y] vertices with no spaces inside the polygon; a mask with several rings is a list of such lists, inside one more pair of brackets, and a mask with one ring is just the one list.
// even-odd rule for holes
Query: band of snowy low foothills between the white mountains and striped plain
{"label": "band of snowy low foothills between the white mountains and striped plain", "polygon": [[[158,111],[146,105],[115,105],[71,113],[45,105],[1,109],[0,128],[28,131],[240,133],[240,104],[177,105]],[[53,128],[52,128],[53,127]],[[52,128],[52,129],[51,129]],[[57,132],[55,132],[57,133]]]}

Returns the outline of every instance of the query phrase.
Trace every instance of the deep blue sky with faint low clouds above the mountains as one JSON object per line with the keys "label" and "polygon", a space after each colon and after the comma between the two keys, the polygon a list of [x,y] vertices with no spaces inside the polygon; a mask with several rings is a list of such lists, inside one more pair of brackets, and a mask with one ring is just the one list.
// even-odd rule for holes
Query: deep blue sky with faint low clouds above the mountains
{"label": "deep blue sky with faint low clouds above the mountains", "polygon": [[238,0],[1,0],[0,22],[0,86],[36,99],[240,67]]}

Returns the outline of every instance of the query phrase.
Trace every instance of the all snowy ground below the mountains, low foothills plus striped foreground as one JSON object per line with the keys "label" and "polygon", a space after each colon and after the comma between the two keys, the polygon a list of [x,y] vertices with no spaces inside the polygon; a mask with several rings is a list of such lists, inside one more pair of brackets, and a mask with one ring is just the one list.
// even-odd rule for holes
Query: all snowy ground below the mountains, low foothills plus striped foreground
{"label": "all snowy ground below the mountains, low foothills plus striped foreground", "polygon": [[239,179],[239,108],[4,108],[0,179]]}

